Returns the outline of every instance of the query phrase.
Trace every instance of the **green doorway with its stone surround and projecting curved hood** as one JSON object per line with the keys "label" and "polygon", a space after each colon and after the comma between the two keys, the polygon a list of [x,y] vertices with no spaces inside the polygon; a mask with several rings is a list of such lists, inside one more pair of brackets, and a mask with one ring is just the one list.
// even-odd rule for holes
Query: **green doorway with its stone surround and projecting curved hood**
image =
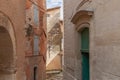
{"label": "green doorway with its stone surround and projecting curved hood", "polygon": [[[77,59],[78,63],[78,70],[81,73],[77,74],[78,79],[82,80],[90,80],[90,48],[89,42],[90,41],[90,32],[89,29],[92,23],[92,16],[94,12],[91,10],[79,10],[77,11],[74,16],[72,17],[71,22],[75,24],[76,30],[79,32],[78,42],[80,43],[77,46],[77,53],[80,55]],[[79,49],[81,51],[79,51]],[[81,53],[81,54],[80,54]],[[81,62],[81,63],[80,63]]]}

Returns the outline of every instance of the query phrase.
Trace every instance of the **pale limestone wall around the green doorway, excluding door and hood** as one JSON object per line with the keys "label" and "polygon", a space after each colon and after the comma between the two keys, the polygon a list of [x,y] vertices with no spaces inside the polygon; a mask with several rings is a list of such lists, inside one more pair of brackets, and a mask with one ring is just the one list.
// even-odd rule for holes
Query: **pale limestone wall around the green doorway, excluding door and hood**
{"label": "pale limestone wall around the green doorway, excluding door and hood", "polygon": [[90,20],[90,80],[119,80],[120,1],[93,0],[76,9],[78,3],[79,0],[64,1],[64,80],[81,80],[79,33],[71,22],[79,10],[94,12]]}

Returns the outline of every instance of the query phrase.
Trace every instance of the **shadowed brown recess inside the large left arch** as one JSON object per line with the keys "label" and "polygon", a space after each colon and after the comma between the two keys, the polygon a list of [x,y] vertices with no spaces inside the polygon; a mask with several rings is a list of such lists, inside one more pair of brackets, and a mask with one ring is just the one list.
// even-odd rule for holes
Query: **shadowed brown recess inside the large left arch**
{"label": "shadowed brown recess inside the large left arch", "polygon": [[[13,45],[8,31],[0,26],[0,80],[8,80],[12,73]],[[9,79],[10,80],[10,79]]]}

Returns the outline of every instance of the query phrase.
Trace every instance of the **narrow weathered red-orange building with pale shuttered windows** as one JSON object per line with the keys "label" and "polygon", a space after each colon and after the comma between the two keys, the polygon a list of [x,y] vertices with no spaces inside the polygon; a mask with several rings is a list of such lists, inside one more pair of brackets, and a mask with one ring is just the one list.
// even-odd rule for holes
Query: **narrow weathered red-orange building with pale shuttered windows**
{"label": "narrow weathered red-orange building with pale shuttered windows", "polygon": [[45,0],[27,0],[25,58],[27,80],[45,80],[46,78],[45,12]]}

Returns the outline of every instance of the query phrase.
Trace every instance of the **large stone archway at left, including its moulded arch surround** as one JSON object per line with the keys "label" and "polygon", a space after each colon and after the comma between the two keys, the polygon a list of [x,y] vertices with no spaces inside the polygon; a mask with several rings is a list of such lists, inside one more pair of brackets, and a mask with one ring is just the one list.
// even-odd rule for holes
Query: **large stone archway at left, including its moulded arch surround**
{"label": "large stone archway at left, including its moulded arch surround", "polygon": [[0,12],[0,80],[15,79],[15,36],[9,17]]}

